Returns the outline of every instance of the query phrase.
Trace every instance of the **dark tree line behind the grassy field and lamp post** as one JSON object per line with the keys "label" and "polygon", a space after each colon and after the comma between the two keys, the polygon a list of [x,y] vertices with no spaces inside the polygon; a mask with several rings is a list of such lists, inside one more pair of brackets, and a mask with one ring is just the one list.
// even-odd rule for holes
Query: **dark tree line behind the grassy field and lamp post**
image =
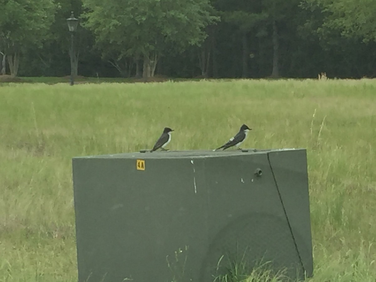
{"label": "dark tree line behind the grassy field and lamp post", "polygon": [[[374,0],[0,0],[13,76],[376,76]],[[70,50],[66,19],[80,24]]]}

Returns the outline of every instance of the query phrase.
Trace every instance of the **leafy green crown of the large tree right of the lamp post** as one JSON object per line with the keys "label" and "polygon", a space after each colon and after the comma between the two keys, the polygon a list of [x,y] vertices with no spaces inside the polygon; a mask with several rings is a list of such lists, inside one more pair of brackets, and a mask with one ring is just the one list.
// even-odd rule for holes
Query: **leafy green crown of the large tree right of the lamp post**
{"label": "leafy green crown of the large tree right of the lamp post", "polygon": [[94,32],[99,47],[121,55],[184,50],[199,45],[205,27],[218,20],[208,0],[83,0],[88,12],[85,26]]}

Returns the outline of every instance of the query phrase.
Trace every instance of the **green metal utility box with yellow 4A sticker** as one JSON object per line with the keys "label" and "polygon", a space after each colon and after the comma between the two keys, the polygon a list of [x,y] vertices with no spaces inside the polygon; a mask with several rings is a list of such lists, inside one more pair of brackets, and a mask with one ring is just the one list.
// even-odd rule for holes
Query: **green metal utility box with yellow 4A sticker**
{"label": "green metal utility box with yellow 4A sticker", "polygon": [[304,149],[84,156],[73,183],[79,282],[312,276]]}

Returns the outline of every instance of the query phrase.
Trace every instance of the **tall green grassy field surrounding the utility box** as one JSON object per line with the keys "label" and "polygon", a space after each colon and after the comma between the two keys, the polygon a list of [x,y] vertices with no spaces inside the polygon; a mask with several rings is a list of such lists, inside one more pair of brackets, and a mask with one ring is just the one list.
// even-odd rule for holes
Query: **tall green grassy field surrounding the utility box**
{"label": "tall green grassy field surrounding the utility box", "polygon": [[243,147],[308,150],[310,281],[376,281],[367,79],[0,87],[0,281],[76,281],[72,157],[151,148],[165,126],[171,150],[214,149],[242,123]]}

